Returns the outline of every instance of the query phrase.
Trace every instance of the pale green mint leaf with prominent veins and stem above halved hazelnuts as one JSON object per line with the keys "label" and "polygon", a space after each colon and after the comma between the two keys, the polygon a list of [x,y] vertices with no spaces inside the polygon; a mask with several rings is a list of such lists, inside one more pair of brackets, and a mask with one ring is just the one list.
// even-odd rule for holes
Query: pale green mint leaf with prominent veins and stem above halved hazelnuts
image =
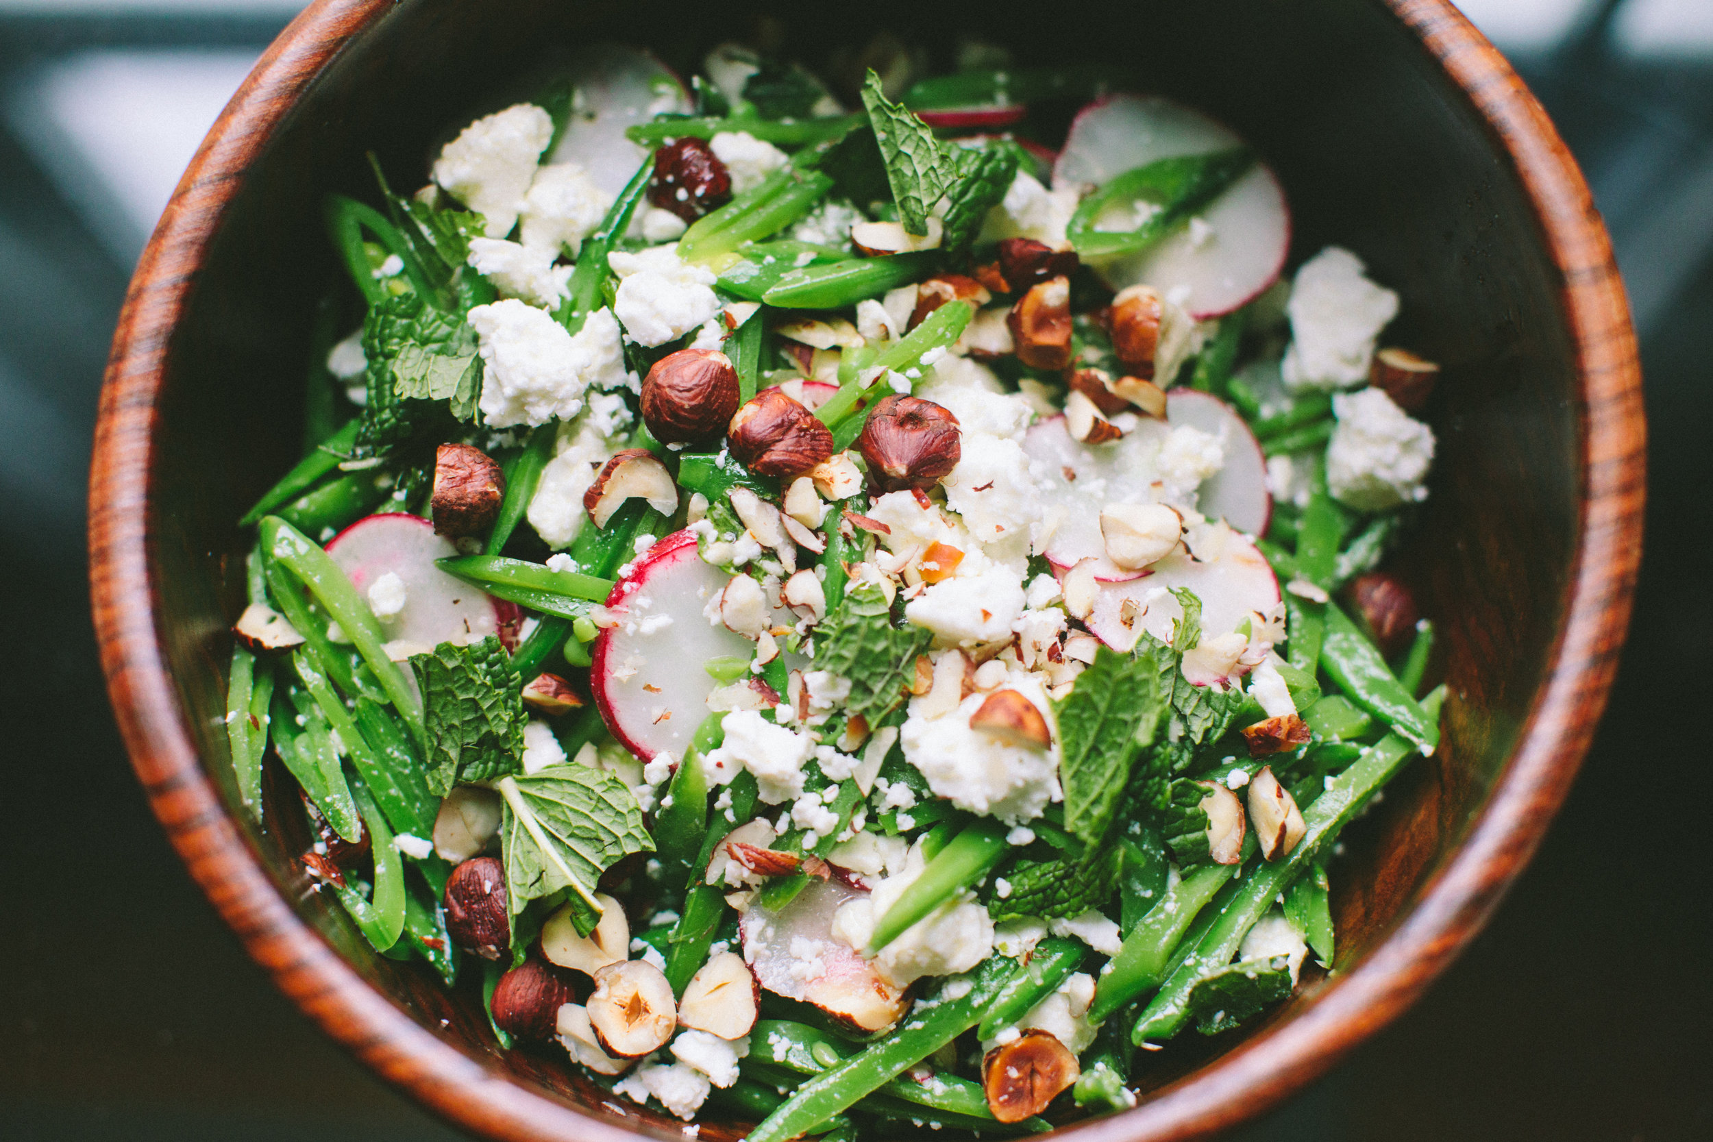
{"label": "pale green mint leaf with prominent veins and stem above halved hazelnuts", "polygon": [[502,777],[498,789],[510,916],[529,901],[569,889],[572,921],[589,935],[601,918],[594,899],[601,875],[632,853],[654,851],[636,796],[613,774],[576,764]]}

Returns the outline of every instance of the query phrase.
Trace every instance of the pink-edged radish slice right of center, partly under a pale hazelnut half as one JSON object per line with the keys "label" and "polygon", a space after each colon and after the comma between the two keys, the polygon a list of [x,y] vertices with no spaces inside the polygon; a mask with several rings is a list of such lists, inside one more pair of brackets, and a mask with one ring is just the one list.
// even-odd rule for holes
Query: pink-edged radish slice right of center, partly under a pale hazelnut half
{"label": "pink-edged radish slice right of center, partly under a pale hazelnut half", "polygon": [[1172,640],[1172,623],[1184,618],[1173,587],[1187,587],[1201,599],[1204,637],[1237,630],[1245,618],[1259,623],[1280,601],[1280,580],[1256,544],[1227,532],[1218,556],[1201,562],[1182,548],[1131,582],[1107,584],[1095,599],[1088,628],[1113,651],[1129,652],[1146,630],[1161,642]]}

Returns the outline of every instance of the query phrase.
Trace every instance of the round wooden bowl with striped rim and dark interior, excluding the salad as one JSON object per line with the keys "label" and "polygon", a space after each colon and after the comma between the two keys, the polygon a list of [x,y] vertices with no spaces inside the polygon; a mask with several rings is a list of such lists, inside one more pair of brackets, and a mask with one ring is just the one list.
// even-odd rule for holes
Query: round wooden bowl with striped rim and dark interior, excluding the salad
{"label": "round wooden bowl with striped rim and dark interior, excluding the salad", "polygon": [[[322,195],[370,193],[367,149],[396,185],[420,185],[444,132],[490,110],[548,45],[634,39],[682,63],[755,15],[646,10],[639,27],[615,3],[310,7],[214,125],[142,255],[96,433],[96,628],[154,812],[305,1012],[498,1139],[682,1135],[570,1077],[562,1053],[500,1053],[480,996],[372,954],[310,889],[295,815],[257,830],[235,810],[221,726],[243,580],[233,520],[295,459],[307,330],[334,272]],[[1444,746],[1348,834],[1336,971],[1235,1041],[1144,1060],[1143,1104],[1076,1132],[1139,1142],[1228,1127],[1420,995],[1533,853],[1588,746],[1643,509],[1636,342],[1605,229],[1540,106],[1446,0],[1081,3],[1053,19],[882,2],[791,19],[810,60],[891,24],[939,48],[975,33],[1023,60],[1141,67],[1269,158],[1295,209],[1295,259],[1328,241],[1358,250],[1403,294],[1389,337],[1446,365],[1434,495],[1405,560],[1444,632]],[[286,803],[283,782],[271,793]]]}

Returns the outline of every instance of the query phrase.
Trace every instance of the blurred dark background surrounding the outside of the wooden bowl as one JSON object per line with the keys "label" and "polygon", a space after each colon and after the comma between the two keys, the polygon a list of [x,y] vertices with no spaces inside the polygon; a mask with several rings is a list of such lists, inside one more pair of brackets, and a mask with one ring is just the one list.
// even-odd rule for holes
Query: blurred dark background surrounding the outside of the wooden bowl
{"label": "blurred dark background surrounding the outside of the wooden bowl", "polygon": [[[298,7],[0,0],[0,1142],[463,1137],[216,919],[125,762],[89,627],[84,483],[127,277]],[[1651,435],[1636,622],[1583,776],[1494,921],[1410,1014],[1232,1137],[1713,1139],[1713,0],[1463,7],[1576,151],[1627,277]]]}

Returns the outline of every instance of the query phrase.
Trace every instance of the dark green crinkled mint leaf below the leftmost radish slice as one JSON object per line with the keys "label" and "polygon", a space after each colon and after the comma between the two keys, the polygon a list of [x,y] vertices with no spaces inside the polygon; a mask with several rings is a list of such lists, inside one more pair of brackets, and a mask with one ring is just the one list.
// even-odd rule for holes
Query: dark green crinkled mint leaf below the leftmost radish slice
{"label": "dark green crinkled mint leaf below the leftmost radish slice", "polygon": [[423,692],[428,788],[445,796],[459,782],[517,772],[528,716],[500,640],[442,642],[409,663]]}

